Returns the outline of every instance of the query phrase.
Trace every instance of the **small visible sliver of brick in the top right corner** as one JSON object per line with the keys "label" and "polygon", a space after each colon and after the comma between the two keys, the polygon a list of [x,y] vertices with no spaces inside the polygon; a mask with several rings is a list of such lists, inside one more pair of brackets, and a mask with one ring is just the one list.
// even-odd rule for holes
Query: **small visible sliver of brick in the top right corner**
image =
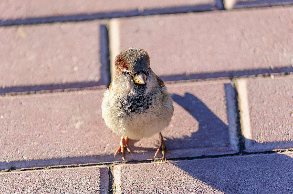
{"label": "small visible sliver of brick in the top right corner", "polygon": [[241,9],[241,8],[255,8],[255,7],[270,7],[270,6],[287,6],[292,5],[291,0],[224,0],[225,9]]}

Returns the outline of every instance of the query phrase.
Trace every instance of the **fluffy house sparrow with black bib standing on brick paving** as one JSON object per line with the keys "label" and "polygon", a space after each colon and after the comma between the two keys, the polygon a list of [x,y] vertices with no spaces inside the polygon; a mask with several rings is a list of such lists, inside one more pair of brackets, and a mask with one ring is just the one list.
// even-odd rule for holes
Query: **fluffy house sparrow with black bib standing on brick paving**
{"label": "fluffy house sparrow with black bib standing on brick paving", "polygon": [[[173,116],[173,101],[161,78],[151,70],[149,54],[141,48],[127,48],[114,61],[115,72],[102,100],[102,116],[106,125],[121,135],[120,146],[125,162],[128,138],[139,140],[159,133],[162,161],[166,149],[161,131]],[[132,154],[132,153],[131,153]]]}

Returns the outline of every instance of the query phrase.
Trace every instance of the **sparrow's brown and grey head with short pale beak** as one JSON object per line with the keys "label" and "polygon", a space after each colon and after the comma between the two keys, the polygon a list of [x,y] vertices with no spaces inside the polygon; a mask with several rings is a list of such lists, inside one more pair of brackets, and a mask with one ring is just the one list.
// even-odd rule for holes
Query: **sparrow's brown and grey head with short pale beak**
{"label": "sparrow's brown and grey head with short pale beak", "polygon": [[149,54],[141,48],[127,48],[115,58],[113,81],[120,86],[144,86],[149,74]]}

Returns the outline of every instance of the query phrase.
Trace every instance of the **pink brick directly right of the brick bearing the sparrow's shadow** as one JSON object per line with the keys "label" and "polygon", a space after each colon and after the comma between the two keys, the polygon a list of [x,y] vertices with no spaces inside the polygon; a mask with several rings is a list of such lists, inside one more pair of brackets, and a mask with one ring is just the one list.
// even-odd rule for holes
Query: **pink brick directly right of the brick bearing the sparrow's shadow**
{"label": "pink brick directly right of the brick bearing the sparrow's shadow", "polygon": [[293,76],[237,81],[247,152],[293,148]]}

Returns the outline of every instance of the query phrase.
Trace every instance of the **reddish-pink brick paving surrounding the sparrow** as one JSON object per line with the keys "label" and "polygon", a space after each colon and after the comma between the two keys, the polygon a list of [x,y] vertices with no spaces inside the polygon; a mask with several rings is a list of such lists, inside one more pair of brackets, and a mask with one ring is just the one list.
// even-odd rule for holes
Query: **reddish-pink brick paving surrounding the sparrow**
{"label": "reddish-pink brick paving surrounding the sparrow", "polygon": [[[0,193],[292,193],[290,5],[1,2]],[[130,46],[172,93],[163,164],[157,135],[113,158],[120,137],[101,116]]]}

